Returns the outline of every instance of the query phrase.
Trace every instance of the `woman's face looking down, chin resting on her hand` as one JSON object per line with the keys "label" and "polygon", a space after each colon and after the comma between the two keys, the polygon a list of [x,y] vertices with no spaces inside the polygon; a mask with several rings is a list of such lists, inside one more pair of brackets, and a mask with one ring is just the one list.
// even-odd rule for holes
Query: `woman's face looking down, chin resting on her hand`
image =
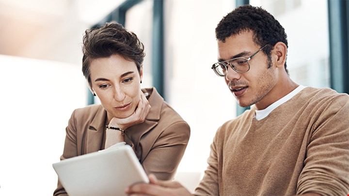
{"label": "woman's face looking down, chin resting on her hand", "polygon": [[141,73],[134,61],[120,55],[90,63],[92,90],[111,116],[124,119],[135,111],[141,98]]}

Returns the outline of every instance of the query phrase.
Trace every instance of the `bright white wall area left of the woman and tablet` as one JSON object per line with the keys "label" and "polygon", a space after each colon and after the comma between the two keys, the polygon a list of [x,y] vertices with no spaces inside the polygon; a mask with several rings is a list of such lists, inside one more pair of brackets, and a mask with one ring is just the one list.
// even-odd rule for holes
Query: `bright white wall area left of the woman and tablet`
{"label": "bright white wall area left of the woman and tablet", "polygon": [[80,66],[0,55],[0,195],[52,195],[73,109],[86,105]]}

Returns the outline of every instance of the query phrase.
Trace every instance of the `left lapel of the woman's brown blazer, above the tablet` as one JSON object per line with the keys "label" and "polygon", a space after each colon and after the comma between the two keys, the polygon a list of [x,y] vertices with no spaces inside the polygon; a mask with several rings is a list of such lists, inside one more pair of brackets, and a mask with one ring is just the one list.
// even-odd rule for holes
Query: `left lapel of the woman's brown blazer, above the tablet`
{"label": "left lapel of the woman's brown blazer, above the tablet", "polygon": [[106,118],[107,111],[100,106],[86,131],[86,153],[101,149]]}

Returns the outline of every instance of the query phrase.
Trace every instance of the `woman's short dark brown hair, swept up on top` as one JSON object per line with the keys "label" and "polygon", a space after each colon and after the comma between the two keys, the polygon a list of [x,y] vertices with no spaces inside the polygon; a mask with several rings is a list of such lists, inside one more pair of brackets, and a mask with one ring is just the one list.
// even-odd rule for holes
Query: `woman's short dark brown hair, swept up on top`
{"label": "woman's short dark brown hair, swept up on top", "polygon": [[137,35],[116,22],[86,30],[83,37],[82,53],[82,73],[90,87],[92,86],[90,78],[92,60],[118,54],[126,60],[134,61],[140,73],[145,56],[144,45]]}

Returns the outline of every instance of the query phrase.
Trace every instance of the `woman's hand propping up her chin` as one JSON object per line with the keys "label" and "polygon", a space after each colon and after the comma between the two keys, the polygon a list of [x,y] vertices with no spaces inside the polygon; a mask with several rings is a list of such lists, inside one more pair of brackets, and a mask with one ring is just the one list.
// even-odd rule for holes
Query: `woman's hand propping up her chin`
{"label": "woman's hand propping up her chin", "polygon": [[114,117],[109,122],[109,126],[118,127],[125,130],[128,127],[140,124],[145,121],[145,118],[150,112],[150,108],[151,106],[149,105],[148,100],[141,91],[140,101],[138,102],[136,110],[133,112],[133,114],[125,119],[118,119]]}

